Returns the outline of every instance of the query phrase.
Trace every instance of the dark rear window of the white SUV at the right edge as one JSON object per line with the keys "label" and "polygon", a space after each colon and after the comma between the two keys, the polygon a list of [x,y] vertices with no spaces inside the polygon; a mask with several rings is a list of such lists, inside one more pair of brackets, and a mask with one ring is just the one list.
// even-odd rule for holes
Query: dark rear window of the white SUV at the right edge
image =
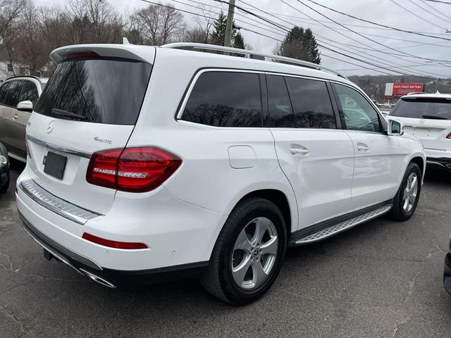
{"label": "dark rear window of the white SUV at the right edge", "polygon": [[451,100],[405,98],[400,99],[390,116],[400,118],[431,118],[435,120],[451,120]]}

